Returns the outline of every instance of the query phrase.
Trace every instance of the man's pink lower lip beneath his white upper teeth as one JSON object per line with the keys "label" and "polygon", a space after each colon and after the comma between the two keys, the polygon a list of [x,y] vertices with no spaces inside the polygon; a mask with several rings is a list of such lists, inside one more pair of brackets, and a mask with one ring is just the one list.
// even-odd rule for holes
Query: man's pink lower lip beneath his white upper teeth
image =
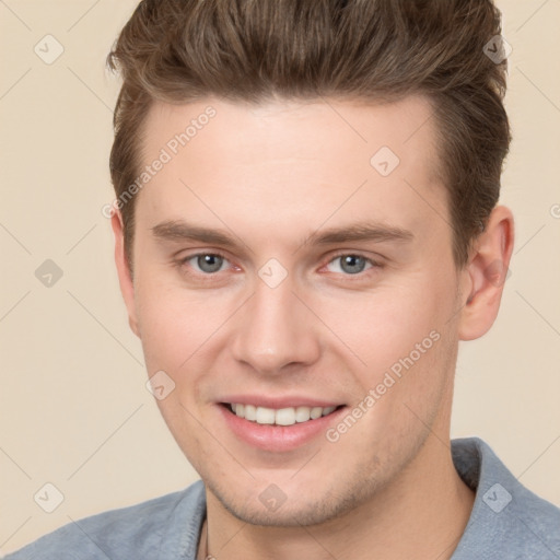
{"label": "man's pink lower lip beneath his white upper teeth", "polygon": [[258,424],[240,418],[224,405],[218,405],[231,431],[242,441],[266,451],[282,452],[295,450],[324,435],[347,407],[340,407],[330,415],[292,425]]}

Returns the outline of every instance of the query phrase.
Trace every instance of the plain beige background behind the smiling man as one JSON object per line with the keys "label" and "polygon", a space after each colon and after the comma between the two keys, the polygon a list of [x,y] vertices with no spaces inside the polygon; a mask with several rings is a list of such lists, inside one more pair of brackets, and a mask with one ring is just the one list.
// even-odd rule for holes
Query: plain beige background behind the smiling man
{"label": "plain beige background behind the smiling man", "polygon": [[[144,387],[101,213],[113,199],[118,88],[104,62],[136,3],[0,1],[3,552],[197,478]],[[513,47],[515,136],[502,201],[517,238],[501,316],[462,347],[452,433],[483,438],[524,485],[560,505],[560,1],[499,5]],[[65,49],[51,65],[34,51],[56,52],[47,34]],[[46,259],[63,271],[50,288],[35,277]],[[50,514],[34,501],[47,482],[65,497]]]}

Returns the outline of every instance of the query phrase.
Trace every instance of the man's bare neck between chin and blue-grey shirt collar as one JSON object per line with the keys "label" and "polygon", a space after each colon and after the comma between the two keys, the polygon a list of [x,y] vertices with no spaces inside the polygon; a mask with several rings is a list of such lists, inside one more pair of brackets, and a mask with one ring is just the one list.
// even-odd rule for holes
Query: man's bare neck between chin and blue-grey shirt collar
{"label": "man's bare neck between chin and blue-grey shirt collar", "polygon": [[[199,559],[447,560],[467,525],[474,492],[457,475],[448,438],[430,435],[397,480],[343,516],[308,527],[243,523],[207,489]],[[206,548],[208,530],[208,550]]]}

